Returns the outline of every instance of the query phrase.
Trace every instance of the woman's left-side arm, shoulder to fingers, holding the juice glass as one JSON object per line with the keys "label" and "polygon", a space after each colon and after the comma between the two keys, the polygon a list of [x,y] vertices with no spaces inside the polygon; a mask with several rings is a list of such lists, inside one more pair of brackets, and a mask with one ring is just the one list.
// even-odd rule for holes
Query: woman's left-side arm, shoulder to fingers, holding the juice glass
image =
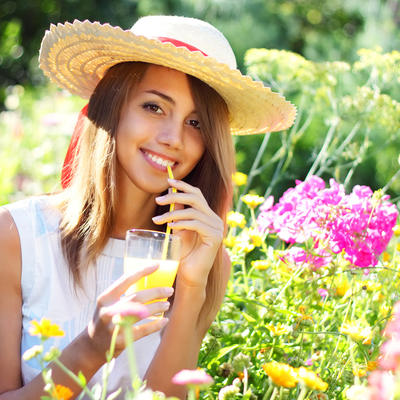
{"label": "woman's left-side arm, shoulder to fingers, holding the juice glass", "polygon": [[[22,299],[21,299],[21,249],[18,230],[5,209],[0,208],[0,400],[29,400],[40,399],[44,395],[44,383],[41,374],[27,385],[22,386],[21,380],[21,328],[22,328]],[[108,350],[113,331],[112,317],[123,311],[129,313],[134,302],[169,297],[166,288],[150,289],[138,292],[131,298],[119,300],[122,293],[140,278],[154,272],[149,267],[139,274],[123,276],[116,281],[97,301],[95,315],[88,328],[84,330],[62,352],[60,361],[71,371],[82,371],[87,380],[104,364],[105,352]],[[133,299],[134,297],[134,299]],[[149,314],[165,311],[163,303],[152,303],[148,306]],[[139,339],[161,329],[165,321],[158,320],[145,323],[133,328],[135,339]],[[122,335],[117,340],[117,352],[124,348]],[[68,386],[77,396],[81,389],[62,370],[50,365],[52,377],[56,384]]]}

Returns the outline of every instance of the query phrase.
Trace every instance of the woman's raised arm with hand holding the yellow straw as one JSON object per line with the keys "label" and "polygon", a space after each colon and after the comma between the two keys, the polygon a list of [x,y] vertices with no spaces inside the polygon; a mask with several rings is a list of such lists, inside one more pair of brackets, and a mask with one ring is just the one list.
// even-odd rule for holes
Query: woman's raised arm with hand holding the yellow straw
{"label": "woman's raised arm with hand holding the yellow straw", "polygon": [[[171,379],[182,369],[196,367],[201,342],[224,298],[231,262],[227,252],[223,250],[216,301],[208,314],[204,315],[201,310],[206,300],[208,273],[221,246],[223,223],[204,204],[205,199],[198,189],[181,181],[176,188],[184,193],[169,194],[164,197],[162,204],[190,204],[195,211],[192,208],[182,209],[176,204],[177,211],[166,213],[155,221],[161,224],[173,220],[174,230],[179,229],[183,242],[190,243],[189,246],[184,246],[189,247],[190,251],[181,260],[170,322],[164,330],[161,344],[145,378],[154,390],[184,399],[186,389],[173,385]],[[194,220],[190,220],[191,218]]]}

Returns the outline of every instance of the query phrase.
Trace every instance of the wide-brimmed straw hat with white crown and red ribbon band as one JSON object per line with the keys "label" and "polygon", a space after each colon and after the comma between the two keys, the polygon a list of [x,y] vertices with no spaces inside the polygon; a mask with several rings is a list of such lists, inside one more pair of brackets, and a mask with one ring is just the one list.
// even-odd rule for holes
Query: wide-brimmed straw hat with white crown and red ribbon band
{"label": "wide-brimmed straw hat with white crown and red ribbon band", "polygon": [[78,21],[51,25],[43,38],[40,68],[58,86],[89,98],[108,68],[124,61],[163,65],[193,75],[226,101],[233,134],[290,127],[295,107],[236,68],[223,34],[207,22],[148,16],[131,30]]}

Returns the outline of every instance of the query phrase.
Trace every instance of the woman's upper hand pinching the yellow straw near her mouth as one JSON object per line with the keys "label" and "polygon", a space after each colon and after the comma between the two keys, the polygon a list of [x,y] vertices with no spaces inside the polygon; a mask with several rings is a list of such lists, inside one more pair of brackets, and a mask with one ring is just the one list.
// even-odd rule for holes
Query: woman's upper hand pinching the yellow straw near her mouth
{"label": "woman's upper hand pinching the yellow straw near her mouth", "polygon": [[[175,203],[175,210],[153,218],[168,223],[182,238],[178,279],[189,286],[204,286],[224,234],[221,218],[210,208],[200,189],[183,181],[168,179],[179,192],[157,197],[160,205]],[[184,208],[184,206],[189,206]]]}

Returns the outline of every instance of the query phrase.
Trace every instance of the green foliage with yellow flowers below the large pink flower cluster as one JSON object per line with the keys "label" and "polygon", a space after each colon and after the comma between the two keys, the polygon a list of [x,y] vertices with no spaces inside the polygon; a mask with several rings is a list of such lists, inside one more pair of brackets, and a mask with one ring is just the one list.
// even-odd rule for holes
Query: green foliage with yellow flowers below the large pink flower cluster
{"label": "green foliage with yellow flowers below the large pink flower cluster", "polygon": [[[202,398],[236,386],[229,398],[272,399],[275,387],[284,399],[345,399],[376,368],[383,328],[399,300],[398,239],[370,270],[351,267],[342,254],[313,268],[284,258],[285,246],[274,235],[258,233],[263,240],[257,243],[248,234],[257,224],[254,213],[245,213],[248,227],[231,227],[226,240],[233,273],[201,349],[200,365],[215,380],[213,393]],[[326,393],[301,385],[278,389],[264,371],[273,361],[306,366],[328,384]]]}

